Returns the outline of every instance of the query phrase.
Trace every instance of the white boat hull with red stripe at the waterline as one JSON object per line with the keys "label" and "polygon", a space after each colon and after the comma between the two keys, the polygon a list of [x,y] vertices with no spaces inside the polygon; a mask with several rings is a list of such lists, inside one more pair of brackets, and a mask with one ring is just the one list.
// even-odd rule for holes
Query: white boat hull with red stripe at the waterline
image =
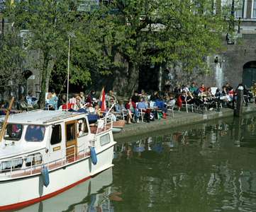
{"label": "white boat hull with red stripe at the waterline", "polygon": [[[113,144],[109,144],[103,151],[96,153],[98,163],[93,165],[91,158],[83,158],[65,167],[49,171],[50,184],[43,186],[41,175],[13,178],[2,181],[0,179],[0,211],[35,204],[43,199],[60,194],[74,187],[90,177],[112,167]],[[47,167],[47,166],[46,166]]]}

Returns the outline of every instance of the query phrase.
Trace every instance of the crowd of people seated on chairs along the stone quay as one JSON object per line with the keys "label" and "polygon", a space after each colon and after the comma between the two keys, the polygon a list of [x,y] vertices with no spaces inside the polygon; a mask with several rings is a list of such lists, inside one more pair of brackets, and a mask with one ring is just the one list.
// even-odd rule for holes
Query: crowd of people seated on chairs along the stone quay
{"label": "crowd of people seated on chairs along the stone quay", "polygon": [[[175,104],[177,104],[178,107],[182,104],[194,104],[197,106],[197,109],[200,109],[202,105],[206,105],[208,110],[213,110],[213,105],[219,98],[220,100],[225,101],[228,107],[230,107],[231,100],[236,99],[238,87],[243,86],[242,84],[239,84],[238,87],[234,89],[229,83],[226,83],[226,86],[223,86],[222,90],[217,88],[216,92],[212,93],[211,87],[206,88],[204,83],[201,83],[199,88],[196,88],[195,83],[191,83],[190,87],[183,84],[182,86],[177,85],[170,90],[172,75],[167,69],[165,70],[165,73],[166,79],[163,95],[160,95],[157,90],[155,90],[152,95],[147,95],[143,89],[140,90],[140,93],[138,93],[138,90],[135,90],[133,96],[128,98],[125,104],[124,100],[117,100],[116,96],[113,95],[113,91],[110,90],[108,95],[106,95],[106,103],[108,105],[107,110],[123,113],[127,117],[128,124],[131,124],[131,120],[133,120],[132,116],[134,115],[135,123],[139,124],[139,112],[146,114],[148,122],[154,120],[154,117],[152,117],[152,110],[150,110],[150,102],[155,102],[157,110],[162,113],[162,118],[167,119],[167,107],[173,108]],[[249,98],[255,98],[256,83],[249,90],[244,89],[244,95],[247,95]],[[100,117],[104,117],[106,113],[99,111],[98,102],[99,97],[96,96],[95,90],[91,90],[91,93],[89,93],[87,97],[84,96],[83,92],[75,93],[68,104],[66,95],[63,94],[60,95],[60,97],[57,97],[54,89],[51,89],[50,92],[45,95],[45,105],[48,104],[50,110],[58,110],[60,107],[62,110],[79,110],[85,107],[91,107],[94,114],[99,114]],[[3,102],[0,102],[0,107],[6,109],[9,108],[9,102],[6,102],[6,105],[4,105]],[[21,96],[20,101],[18,102],[18,109],[22,111],[30,111],[38,108],[38,98],[33,95],[31,90],[28,91],[26,98]],[[6,114],[6,111],[0,110],[0,114],[4,115]],[[113,120],[116,120],[114,115]]]}

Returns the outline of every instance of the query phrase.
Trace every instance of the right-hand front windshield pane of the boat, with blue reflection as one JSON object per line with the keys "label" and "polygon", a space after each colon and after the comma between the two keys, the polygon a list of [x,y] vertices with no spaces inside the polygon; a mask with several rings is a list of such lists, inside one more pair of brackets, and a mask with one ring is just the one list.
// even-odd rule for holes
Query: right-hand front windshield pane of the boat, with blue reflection
{"label": "right-hand front windshield pane of the boat, with blue reflection", "polygon": [[45,126],[39,125],[28,125],[28,129],[26,131],[25,140],[26,141],[43,141],[45,136]]}

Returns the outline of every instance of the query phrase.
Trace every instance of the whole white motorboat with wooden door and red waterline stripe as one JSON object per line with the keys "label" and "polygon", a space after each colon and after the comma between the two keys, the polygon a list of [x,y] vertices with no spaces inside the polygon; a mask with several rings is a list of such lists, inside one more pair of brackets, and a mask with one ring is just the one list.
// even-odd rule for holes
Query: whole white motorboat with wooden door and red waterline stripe
{"label": "whole white motorboat with wooden door and red waterline stripe", "polygon": [[85,113],[9,116],[0,143],[0,211],[43,201],[112,167],[115,143],[112,125],[89,126]]}

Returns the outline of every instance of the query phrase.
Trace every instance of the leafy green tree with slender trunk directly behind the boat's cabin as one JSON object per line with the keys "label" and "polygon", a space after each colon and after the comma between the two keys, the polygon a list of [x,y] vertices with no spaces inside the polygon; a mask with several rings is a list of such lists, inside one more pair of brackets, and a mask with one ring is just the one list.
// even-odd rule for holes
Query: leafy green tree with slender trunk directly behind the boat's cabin
{"label": "leafy green tree with slender trunk directly behind the boat's cabin", "polygon": [[[96,35],[98,29],[97,24],[101,23],[97,16],[91,16],[91,13],[83,11],[81,16],[77,17],[77,6],[79,1],[50,1],[50,0],[30,0],[16,3],[15,7],[10,10],[9,18],[16,22],[18,29],[27,29],[26,36],[23,37],[24,47],[28,51],[37,51],[40,49],[40,58],[33,60],[33,66],[41,71],[41,93],[40,93],[40,108],[43,109],[45,102],[46,81],[49,73],[52,72],[52,67],[57,64],[58,71],[65,69],[67,59],[64,55],[68,52],[68,43],[70,33],[75,35],[72,38],[72,43],[76,42],[81,45],[83,40],[86,40],[83,49],[91,47],[91,51],[97,57],[102,58],[99,49],[98,40],[89,37]],[[88,7],[91,5],[88,5]],[[94,26],[94,27],[92,27]],[[98,37],[98,36],[95,36]],[[88,46],[88,44],[90,44]],[[72,49],[73,51],[73,49]],[[77,55],[77,60],[87,58],[88,51],[80,51]],[[73,54],[74,55],[74,54]],[[94,55],[95,57],[95,55]],[[64,61],[65,59],[65,61]],[[101,73],[107,72],[107,60],[103,58],[99,60],[101,64],[96,66],[96,69],[101,69]],[[72,59],[73,60],[73,59]],[[74,64],[74,63],[72,63]],[[70,66],[71,82],[88,81],[90,79],[88,69],[82,66]],[[67,76],[67,69],[64,70]],[[64,78],[60,79],[60,84],[64,83]],[[63,80],[63,81],[62,81]]]}

